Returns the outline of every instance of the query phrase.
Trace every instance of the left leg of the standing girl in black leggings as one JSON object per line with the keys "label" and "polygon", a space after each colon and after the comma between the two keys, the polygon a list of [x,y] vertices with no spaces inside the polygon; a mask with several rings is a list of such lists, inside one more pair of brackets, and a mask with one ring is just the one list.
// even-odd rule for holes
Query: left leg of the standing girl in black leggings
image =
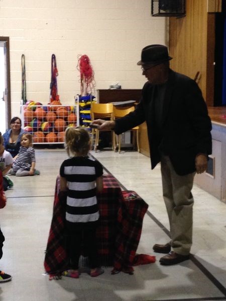
{"label": "left leg of the standing girl in black leggings", "polygon": [[[78,261],[81,255],[82,231],[80,227],[70,228],[70,223],[67,222],[68,241],[67,249],[70,260],[70,268],[78,269]],[[75,225],[74,225],[75,226]]]}

